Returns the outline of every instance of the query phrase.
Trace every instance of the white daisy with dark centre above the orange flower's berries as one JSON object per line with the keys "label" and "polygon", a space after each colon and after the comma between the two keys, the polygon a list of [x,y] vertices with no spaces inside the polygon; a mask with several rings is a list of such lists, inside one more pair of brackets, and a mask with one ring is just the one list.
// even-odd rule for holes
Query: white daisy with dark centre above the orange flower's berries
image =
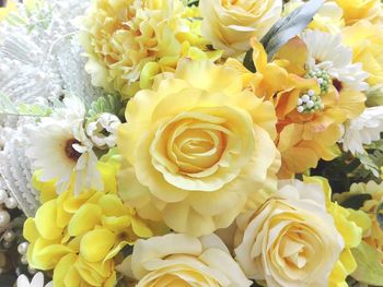
{"label": "white daisy with dark centre above the orange flower's berries", "polygon": [[302,40],[309,49],[307,71],[327,72],[338,91],[348,87],[361,92],[369,87],[364,82],[368,73],[361,63],[352,63],[352,50],[341,44],[340,34],[309,29]]}

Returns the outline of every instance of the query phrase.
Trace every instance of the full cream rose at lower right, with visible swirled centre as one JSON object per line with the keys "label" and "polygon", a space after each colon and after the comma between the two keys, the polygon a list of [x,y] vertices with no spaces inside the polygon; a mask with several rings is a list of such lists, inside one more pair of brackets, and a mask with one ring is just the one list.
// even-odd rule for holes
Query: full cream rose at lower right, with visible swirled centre
{"label": "full cream rose at lower right, with visible swirled centre", "polygon": [[344,249],[321,186],[294,181],[237,218],[236,261],[268,287],[327,287]]}

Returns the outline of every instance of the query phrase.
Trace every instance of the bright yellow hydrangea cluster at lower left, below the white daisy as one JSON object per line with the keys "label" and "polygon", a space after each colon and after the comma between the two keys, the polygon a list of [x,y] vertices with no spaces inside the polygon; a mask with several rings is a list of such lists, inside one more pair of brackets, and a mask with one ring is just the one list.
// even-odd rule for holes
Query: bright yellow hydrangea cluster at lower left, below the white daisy
{"label": "bright yellow hydrangea cluster at lower left, below the white daisy", "polygon": [[67,190],[55,198],[55,182],[34,179],[45,203],[24,224],[27,260],[35,268],[54,270],[55,286],[114,286],[117,253],[138,238],[153,236],[115,194],[116,172],[111,169],[101,165],[105,192],[86,190],[78,196]]}

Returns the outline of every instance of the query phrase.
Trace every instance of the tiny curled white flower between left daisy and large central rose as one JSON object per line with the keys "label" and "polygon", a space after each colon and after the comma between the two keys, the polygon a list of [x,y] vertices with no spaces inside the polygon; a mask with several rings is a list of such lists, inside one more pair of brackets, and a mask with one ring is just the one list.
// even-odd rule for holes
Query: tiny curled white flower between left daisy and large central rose
{"label": "tiny curled white flower between left daisy and large central rose", "polygon": [[95,146],[112,148],[116,145],[117,129],[120,123],[115,115],[103,112],[95,121],[88,123],[86,134]]}

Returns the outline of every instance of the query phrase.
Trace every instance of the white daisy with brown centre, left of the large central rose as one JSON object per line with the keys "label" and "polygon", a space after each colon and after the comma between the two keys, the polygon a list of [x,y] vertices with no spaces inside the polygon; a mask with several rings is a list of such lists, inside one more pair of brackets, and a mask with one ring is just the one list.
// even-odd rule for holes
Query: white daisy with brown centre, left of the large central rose
{"label": "white daisy with brown centre, left of the large central rose", "polygon": [[74,179],[74,193],[83,189],[102,190],[101,174],[93,144],[84,131],[85,108],[81,100],[66,98],[65,107],[51,117],[43,118],[28,127],[30,147],[26,155],[36,169],[42,169],[40,180],[57,180],[57,192],[63,192]]}

